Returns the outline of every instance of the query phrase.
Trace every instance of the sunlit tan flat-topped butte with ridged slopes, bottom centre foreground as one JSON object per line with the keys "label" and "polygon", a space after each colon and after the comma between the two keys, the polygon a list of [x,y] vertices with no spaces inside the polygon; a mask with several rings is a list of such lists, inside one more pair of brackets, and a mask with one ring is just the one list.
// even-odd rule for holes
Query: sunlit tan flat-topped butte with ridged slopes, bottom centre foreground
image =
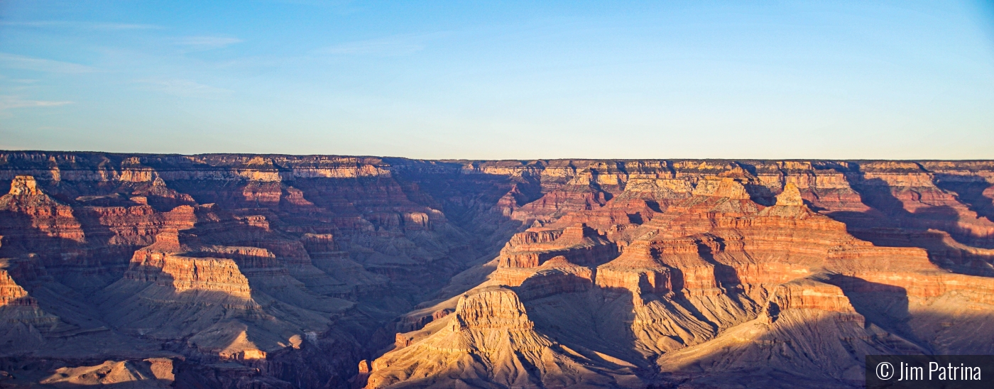
{"label": "sunlit tan flat-topped butte with ridged slopes, bottom centre foreground", "polygon": [[370,387],[638,386],[633,366],[608,370],[537,332],[506,287],[460,296],[452,314],[422,331],[429,334],[373,363]]}

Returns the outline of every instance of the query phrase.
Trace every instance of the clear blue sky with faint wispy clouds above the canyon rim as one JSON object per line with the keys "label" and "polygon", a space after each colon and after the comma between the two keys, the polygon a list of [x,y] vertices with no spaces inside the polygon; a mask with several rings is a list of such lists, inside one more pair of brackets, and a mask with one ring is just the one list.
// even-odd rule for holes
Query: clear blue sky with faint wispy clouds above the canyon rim
{"label": "clear blue sky with faint wispy clouds above the canyon rim", "polygon": [[0,0],[0,149],[994,159],[994,2]]}

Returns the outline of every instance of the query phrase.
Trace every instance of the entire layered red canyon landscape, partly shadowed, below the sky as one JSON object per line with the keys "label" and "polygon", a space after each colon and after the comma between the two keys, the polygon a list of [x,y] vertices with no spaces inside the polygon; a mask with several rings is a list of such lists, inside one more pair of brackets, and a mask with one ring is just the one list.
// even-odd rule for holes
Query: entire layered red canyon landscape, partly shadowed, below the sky
{"label": "entire layered red canyon landscape, partly shadowed, below the sky", "polygon": [[0,152],[0,387],[846,388],[994,353],[994,161]]}

